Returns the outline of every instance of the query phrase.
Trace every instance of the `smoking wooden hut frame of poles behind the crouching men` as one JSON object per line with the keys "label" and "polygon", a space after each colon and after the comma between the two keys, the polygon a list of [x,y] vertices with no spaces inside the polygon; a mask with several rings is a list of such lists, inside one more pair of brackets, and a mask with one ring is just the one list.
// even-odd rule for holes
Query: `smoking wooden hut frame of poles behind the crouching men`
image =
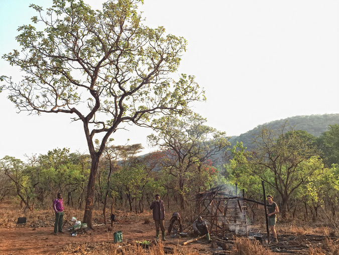
{"label": "smoking wooden hut frame of poles behind the crouching men", "polygon": [[246,199],[231,196],[222,186],[196,195],[197,215],[209,222],[209,232],[222,234],[233,231],[248,236]]}

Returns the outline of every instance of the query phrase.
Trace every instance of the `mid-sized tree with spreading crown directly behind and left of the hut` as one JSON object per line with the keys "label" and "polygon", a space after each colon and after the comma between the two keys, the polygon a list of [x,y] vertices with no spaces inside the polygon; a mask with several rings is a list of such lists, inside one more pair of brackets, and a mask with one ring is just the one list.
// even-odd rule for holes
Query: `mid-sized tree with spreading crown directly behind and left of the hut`
{"label": "mid-sized tree with spreading crown directly behind and left of the hut", "polygon": [[206,168],[208,160],[217,158],[220,150],[229,145],[225,132],[205,125],[198,114],[186,118],[163,117],[157,122],[158,134],[148,136],[151,145],[167,151],[163,167],[177,183],[180,207],[185,208],[185,190],[189,176]]}

